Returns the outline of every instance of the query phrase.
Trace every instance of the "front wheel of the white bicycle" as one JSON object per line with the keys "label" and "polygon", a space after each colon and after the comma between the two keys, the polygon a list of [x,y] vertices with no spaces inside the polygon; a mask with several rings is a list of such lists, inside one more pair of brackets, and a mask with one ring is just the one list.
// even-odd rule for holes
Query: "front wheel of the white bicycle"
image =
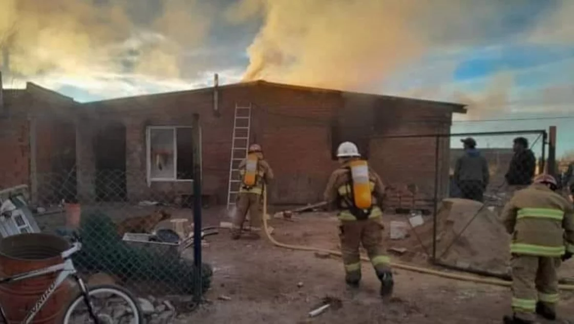
{"label": "front wheel of the white bicycle", "polygon": [[[99,286],[88,287],[88,295],[90,296],[90,300],[92,304],[95,303],[96,295],[103,295],[99,298],[102,298],[106,302],[106,306],[110,306],[108,304],[117,302],[118,300],[123,301],[126,303],[127,307],[114,307],[112,306],[112,314],[103,314],[100,313],[96,305],[94,305],[94,312],[98,317],[99,324],[108,324],[108,323],[129,323],[129,324],[143,324],[144,323],[144,315],[139,307],[139,302],[137,299],[131,295],[131,292],[127,291],[123,287],[113,286],[110,284],[102,284]],[[83,309],[82,309],[83,307]],[[68,307],[65,309],[63,323],[64,324],[72,324],[78,323],[78,320],[75,319],[72,314],[77,311],[80,317],[84,318],[83,322],[93,323],[92,319],[88,315],[87,305],[84,302],[84,295],[80,292],[71,303],[69,303]],[[131,320],[125,320],[124,317],[130,316]]]}

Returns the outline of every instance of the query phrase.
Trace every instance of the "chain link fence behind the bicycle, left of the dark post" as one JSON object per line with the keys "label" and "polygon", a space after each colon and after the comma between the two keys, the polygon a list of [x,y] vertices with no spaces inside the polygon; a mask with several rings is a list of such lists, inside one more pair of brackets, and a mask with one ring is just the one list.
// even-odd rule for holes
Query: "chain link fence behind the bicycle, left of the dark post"
{"label": "chain link fence behind the bicycle, left of the dark post", "polygon": [[[57,235],[77,228],[82,275],[103,272],[141,296],[193,293],[191,181],[148,186],[145,173],[76,167],[36,179],[36,222]],[[211,275],[205,265],[204,291]]]}

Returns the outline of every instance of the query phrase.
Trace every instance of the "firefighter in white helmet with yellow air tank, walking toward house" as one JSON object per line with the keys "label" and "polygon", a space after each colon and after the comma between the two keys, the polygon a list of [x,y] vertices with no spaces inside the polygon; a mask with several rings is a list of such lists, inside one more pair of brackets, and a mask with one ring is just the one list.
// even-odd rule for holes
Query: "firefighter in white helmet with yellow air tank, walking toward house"
{"label": "firefighter in white helmet with yellow air tank, walking toward house", "polygon": [[354,143],[341,143],[337,157],[340,167],[331,174],[324,196],[329,208],[339,210],[339,239],[345,281],[351,288],[359,286],[359,245],[363,244],[381,280],[381,296],[388,296],[393,291],[394,283],[390,259],[382,245],[384,227],[381,206],[385,188],[377,173],[360,159]]}

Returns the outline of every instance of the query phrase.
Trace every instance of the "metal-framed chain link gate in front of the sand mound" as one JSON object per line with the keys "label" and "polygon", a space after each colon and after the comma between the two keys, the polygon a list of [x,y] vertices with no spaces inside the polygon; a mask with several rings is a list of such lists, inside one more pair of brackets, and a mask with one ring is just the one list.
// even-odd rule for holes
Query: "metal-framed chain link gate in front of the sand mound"
{"label": "metal-framed chain link gate in front of the sand mound", "polygon": [[435,262],[507,278],[503,206],[544,170],[545,131],[452,135],[448,192],[438,193]]}

